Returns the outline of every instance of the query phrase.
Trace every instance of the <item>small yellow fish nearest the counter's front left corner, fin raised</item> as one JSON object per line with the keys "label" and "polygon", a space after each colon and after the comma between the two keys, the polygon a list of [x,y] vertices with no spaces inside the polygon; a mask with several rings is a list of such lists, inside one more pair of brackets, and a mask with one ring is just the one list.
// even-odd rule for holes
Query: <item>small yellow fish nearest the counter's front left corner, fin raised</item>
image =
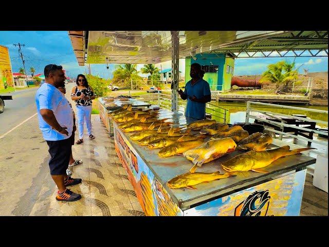
{"label": "small yellow fish nearest the counter's front left corner, fin raised", "polygon": [[177,177],[169,180],[167,182],[168,187],[172,189],[178,189],[183,187],[187,187],[189,189],[196,189],[194,185],[234,176],[229,172],[221,174],[220,171],[215,171],[212,173],[195,172],[196,168],[197,165],[194,165],[189,172],[178,175]]}

